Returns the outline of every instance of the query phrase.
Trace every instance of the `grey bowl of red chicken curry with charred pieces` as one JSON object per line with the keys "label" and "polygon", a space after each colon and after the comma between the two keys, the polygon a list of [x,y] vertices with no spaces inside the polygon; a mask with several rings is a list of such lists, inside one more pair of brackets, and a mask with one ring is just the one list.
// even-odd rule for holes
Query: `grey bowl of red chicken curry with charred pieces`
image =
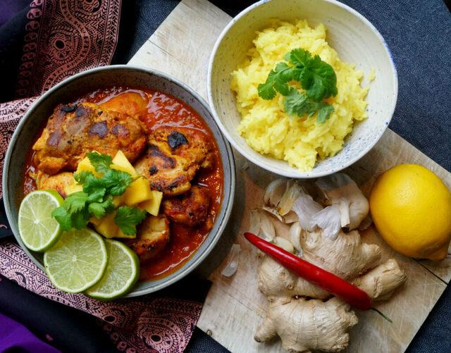
{"label": "grey bowl of red chicken curry with charred pieces", "polygon": [[16,240],[44,271],[42,254],[27,249],[18,233],[21,200],[38,189],[66,197],[66,180],[89,151],[114,156],[118,150],[163,194],[159,214],[148,214],[137,237],[123,240],[140,258],[140,280],[127,295],[135,297],[194,270],[221,237],[233,206],[230,145],[190,87],[156,70],[106,66],[49,89],[11,138],[4,202]]}

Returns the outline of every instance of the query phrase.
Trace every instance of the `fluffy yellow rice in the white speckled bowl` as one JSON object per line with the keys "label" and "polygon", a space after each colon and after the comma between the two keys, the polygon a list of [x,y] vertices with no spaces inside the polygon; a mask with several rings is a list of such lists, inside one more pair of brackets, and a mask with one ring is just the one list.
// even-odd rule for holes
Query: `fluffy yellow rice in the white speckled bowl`
{"label": "fluffy yellow rice in the white speckled bowl", "polygon": [[[231,88],[236,92],[237,109],[242,120],[237,130],[247,144],[261,154],[284,159],[301,171],[311,171],[316,159],[333,156],[343,147],[354,121],[367,118],[364,101],[369,87],[360,87],[363,72],[355,65],[340,61],[337,52],[326,42],[323,24],[311,28],[306,20],[287,23],[273,20],[271,26],[257,32],[248,58],[235,70]],[[326,101],[335,111],[325,123],[311,118],[290,117],[283,111],[284,97],[261,99],[257,92],[268,73],[291,49],[307,49],[329,63],[337,75],[338,94]],[[290,85],[297,82],[290,82]]]}

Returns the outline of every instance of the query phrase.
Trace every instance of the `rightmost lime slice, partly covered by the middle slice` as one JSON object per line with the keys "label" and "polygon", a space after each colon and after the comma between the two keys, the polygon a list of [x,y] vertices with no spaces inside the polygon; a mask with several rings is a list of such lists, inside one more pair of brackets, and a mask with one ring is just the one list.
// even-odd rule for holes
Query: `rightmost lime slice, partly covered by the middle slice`
{"label": "rightmost lime slice, partly covered by the middle slice", "polygon": [[140,260],[132,250],[117,240],[105,240],[108,264],[99,283],[85,294],[102,300],[111,300],[128,292],[140,275]]}

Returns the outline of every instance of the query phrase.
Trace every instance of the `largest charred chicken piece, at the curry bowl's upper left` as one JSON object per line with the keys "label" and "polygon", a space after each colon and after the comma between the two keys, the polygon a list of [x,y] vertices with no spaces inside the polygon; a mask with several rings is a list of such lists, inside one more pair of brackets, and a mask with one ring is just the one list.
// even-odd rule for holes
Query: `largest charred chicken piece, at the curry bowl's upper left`
{"label": "largest charred chicken piece, at the curry bowl's upper left", "polygon": [[38,168],[47,174],[75,171],[89,151],[114,156],[121,149],[130,162],[146,145],[138,118],[102,110],[97,104],[59,104],[35,142]]}

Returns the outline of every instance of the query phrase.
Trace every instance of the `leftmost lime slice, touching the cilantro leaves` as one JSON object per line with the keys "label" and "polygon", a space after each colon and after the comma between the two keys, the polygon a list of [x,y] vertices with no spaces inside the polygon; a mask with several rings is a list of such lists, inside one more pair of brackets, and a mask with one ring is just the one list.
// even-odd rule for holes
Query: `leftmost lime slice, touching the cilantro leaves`
{"label": "leftmost lime slice, touching the cilantro leaves", "polygon": [[28,249],[44,252],[58,241],[61,228],[51,212],[63,204],[54,190],[37,190],[27,194],[19,207],[19,234]]}

